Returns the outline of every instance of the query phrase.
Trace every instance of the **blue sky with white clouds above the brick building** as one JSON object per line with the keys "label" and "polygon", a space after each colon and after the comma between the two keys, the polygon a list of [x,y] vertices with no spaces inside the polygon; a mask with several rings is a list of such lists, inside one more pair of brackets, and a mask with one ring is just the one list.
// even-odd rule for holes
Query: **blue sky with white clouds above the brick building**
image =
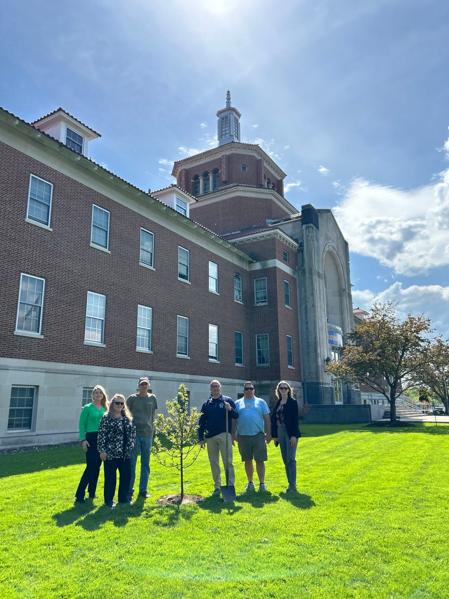
{"label": "blue sky with white clouds above the brick building", "polygon": [[3,0],[0,105],[62,106],[101,133],[90,158],[155,190],[217,146],[229,89],[286,198],[333,211],[354,307],[448,338],[447,40],[447,0]]}

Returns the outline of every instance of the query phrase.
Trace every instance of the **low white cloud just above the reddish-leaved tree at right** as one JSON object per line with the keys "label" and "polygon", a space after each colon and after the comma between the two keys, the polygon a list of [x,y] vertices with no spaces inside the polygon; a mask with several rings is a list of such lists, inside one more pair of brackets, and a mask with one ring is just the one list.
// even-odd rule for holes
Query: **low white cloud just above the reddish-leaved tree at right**
{"label": "low white cloud just above the reddish-leaved tree at right", "polygon": [[353,305],[369,310],[374,301],[385,303],[390,299],[398,302],[396,314],[405,318],[409,312],[417,316],[424,313],[432,319],[435,334],[449,337],[449,287],[441,285],[411,285],[407,288],[401,282],[393,283],[389,288],[374,294],[369,289],[353,289]]}

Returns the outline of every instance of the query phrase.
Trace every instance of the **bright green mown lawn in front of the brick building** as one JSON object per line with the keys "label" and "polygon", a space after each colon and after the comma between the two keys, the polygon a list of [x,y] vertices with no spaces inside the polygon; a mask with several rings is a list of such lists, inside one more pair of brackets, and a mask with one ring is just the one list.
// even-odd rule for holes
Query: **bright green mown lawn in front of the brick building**
{"label": "bright green mown lawn in front of the brick building", "polygon": [[[302,425],[299,494],[269,445],[268,494],[181,508],[153,461],[149,500],[74,506],[81,446],[0,456],[2,599],[441,599],[448,590],[449,425]],[[256,485],[257,486],[257,485]],[[186,493],[213,490],[206,452]]]}

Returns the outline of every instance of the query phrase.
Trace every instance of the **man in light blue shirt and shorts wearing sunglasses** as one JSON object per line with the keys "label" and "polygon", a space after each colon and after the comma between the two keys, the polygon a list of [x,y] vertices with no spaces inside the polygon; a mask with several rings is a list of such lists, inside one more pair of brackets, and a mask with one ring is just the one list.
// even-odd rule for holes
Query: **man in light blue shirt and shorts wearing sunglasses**
{"label": "man in light blue shirt and shorts wearing sunglasses", "polygon": [[265,462],[268,459],[266,446],[271,441],[271,420],[269,407],[260,397],[254,397],[254,385],[247,381],[243,386],[244,397],[235,402],[238,420],[232,420],[232,444],[237,439],[238,450],[245,462],[248,477],[246,491],[254,489],[254,464],[256,462],[259,491],[265,488]]}

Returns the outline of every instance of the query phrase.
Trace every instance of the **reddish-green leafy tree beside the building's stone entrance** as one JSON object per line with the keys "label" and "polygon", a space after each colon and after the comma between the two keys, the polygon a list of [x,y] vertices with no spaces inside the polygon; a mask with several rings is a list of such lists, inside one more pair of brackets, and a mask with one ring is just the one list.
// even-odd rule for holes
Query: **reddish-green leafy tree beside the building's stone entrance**
{"label": "reddish-green leafy tree beside the building's stone entrance", "polygon": [[[396,398],[415,385],[426,363],[431,332],[430,319],[408,314],[396,317],[395,303],[374,304],[370,313],[347,336],[342,359],[327,365],[327,372],[350,383],[365,383],[390,404],[390,420],[396,420]],[[383,378],[384,377],[384,378]],[[385,380],[385,384],[383,383]]]}

